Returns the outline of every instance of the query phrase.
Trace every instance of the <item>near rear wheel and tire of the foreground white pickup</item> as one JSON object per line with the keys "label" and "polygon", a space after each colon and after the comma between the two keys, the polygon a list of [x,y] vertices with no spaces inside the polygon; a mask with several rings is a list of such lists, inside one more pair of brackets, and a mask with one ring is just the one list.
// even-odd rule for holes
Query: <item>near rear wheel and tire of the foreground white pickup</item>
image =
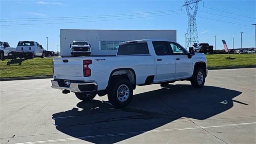
{"label": "near rear wheel and tire of the foreground white pickup", "polygon": [[132,95],[133,89],[129,80],[121,78],[115,78],[112,80],[108,92],[108,100],[113,106],[119,108],[127,106],[127,104],[132,100]]}

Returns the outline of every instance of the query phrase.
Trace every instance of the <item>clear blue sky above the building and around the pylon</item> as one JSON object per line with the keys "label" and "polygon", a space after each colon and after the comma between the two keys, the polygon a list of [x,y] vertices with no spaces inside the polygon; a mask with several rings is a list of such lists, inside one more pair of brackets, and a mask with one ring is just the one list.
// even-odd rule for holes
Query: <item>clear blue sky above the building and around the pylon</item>
{"label": "clear blue sky above the building and around the pylon", "polygon": [[[0,21],[5,18],[48,18],[48,17],[72,17],[72,16],[95,16],[111,14],[130,14],[141,12],[154,12],[165,10],[181,9],[184,0],[1,0],[0,1]],[[207,8],[205,8],[207,7]],[[223,10],[228,14],[209,8]],[[185,10],[183,11],[185,12]],[[216,16],[213,14],[222,16]],[[56,45],[60,45],[60,29],[124,29],[124,30],[157,30],[172,29],[177,30],[177,42],[185,45],[185,35],[187,31],[188,18],[186,14],[177,14],[181,11],[162,12],[158,14],[143,14],[127,17],[111,17],[96,19],[73,19],[55,21],[23,21],[23,22],[0,22],[6,24],[41,24],[56,22],[80,22],[68,24],[42,24],[42,25],[22,25],[22,26],[0,26],[0,40],[7,41],[12,47],[16,47],[20,40],[35,40],[46,48],[46,38],[48,37],[48,50],[56,51]],[[170,14],[170,15],[166,15]],[[164,16],[154,16],[164,15]],[[154,16],[154,17],[147,17]],[[197,17],[197,28],[199,42],[206,42],[214,45],[214,35],[216,37],[216,48],[224,49],[221,40],[226,40],[228,48],[232,46],[234,37],[234,47],[240,48],[240,34],[243,33],[243,47],[255,47],[255,27],[256,24],[256,0],[204,0],[199,3]],[[228,16],[232,18],[226,18]],[[83,22],[95,20],[124,19],[134,17],[146,17],[126,20]],[[206,18],[243,24],[248,26],[219,22]],[[242,20],[237,20],[237,19]],[[254,18],[254,19],[253,19]],[[16,19],[17,20],[17,19]],[[22,20],[22,19],[18,19]],[[36,19],[27,19],[36,20]]]}

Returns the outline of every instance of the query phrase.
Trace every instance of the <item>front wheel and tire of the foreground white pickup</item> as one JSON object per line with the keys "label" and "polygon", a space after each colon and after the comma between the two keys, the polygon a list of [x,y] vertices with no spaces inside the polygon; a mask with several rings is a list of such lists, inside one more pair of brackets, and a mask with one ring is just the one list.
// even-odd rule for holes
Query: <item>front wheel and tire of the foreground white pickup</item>
{"label": "front wheel and tire of the foreground white pickup", "polygon": [[193,74],[193,79],[190,80],[190,83],[194,88],[202,88],[205,82],[205,72],[202,68],[198,68],[195,70]]}

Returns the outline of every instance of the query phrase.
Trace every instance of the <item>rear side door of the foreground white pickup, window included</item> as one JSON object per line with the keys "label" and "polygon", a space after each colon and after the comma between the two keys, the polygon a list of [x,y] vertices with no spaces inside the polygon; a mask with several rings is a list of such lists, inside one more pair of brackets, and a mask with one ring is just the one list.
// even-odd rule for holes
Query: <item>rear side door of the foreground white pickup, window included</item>
{"label": "rear side door of the foreground white pickup, window included", "polygon": [[152,42],[155,50],[156,79],[168,80],[174,78],[175,60],[166,42]]}

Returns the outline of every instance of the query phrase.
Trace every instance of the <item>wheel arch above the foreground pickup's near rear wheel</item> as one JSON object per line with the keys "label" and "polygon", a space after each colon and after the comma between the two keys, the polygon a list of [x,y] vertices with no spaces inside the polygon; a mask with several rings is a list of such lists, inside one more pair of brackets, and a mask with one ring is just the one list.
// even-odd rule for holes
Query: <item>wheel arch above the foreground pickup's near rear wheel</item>
{"label": "wheel arch above the foreground pickup's near rear wheel", "polygon": [[118,76],[118,75],[126,75],[128,80],[130,80],[130,82],[132,83],[132,88],[133,89],[136,88],[136,73],[135,73],[135,71],[132,68],[117,68],[110,73],[110,76],[108,79],[108,86],[107,86],[106,90],[108,90],[113,76]]}

